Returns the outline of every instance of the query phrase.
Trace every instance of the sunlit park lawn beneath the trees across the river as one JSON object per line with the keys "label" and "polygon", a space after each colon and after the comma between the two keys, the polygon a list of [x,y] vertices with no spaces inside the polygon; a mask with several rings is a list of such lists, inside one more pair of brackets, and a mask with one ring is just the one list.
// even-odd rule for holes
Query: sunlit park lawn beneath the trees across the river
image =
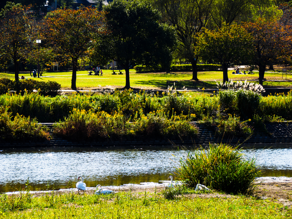
{"label": "sunlit park lawn beneath the trees across the river", "polygon": [[[125,74],[112,75],[111,70],[103,70],[103,76],[88,75],[87,71],[78,71],[76,85],[77,88],[98,88],[98,87],[124,87],[126,84]],[[25,76],[25,78],[31,79],[29,73],[21,72],[19,76]],[[41,81],[56,81],[61,84],[62,89],[71,87],[72,72],[50,72],[44,73],[41,78],[34,78]],[[255,80],[258,78],[258,72],[255,74],[232,74],[232,70],[228,71],[230,80],[244,81]],[[8,77],[14,79],[14,73],[0,73],[0,77]],[[223,72],[198,72],[198,78],[201,81],[207,82],[207,89],[217,88],[215,80],[220,82],[223,80]],[[282,73],[265,73],[267,80],[282,80]],[[286,75],[284,74],[284,79]],[[187,89],[192,89],[192,72],[171,72],[171,73],[137,73],[134,69],[130,69],[130,85],[133,88],[142,89],[165,89],[166,81],[181,81],[181,88],[185,86]],[[292,74],[287,74],[287,80],[292,80]],[[276,88],[276,87],[291,87],[292,81],[287,82],[275,82],[264,81],[264,88]]]}

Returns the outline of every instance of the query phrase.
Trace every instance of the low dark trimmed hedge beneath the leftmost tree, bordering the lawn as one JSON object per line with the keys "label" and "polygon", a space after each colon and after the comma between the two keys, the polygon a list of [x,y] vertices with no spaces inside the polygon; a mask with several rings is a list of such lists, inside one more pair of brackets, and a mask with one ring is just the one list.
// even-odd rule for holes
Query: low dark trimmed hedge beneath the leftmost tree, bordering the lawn
{"label": "low dark trimmed hedge beneath the leftmost tree, bordering the lawn", "polygon": [[55,96],[61,89],[61,85],[55,81],[36,81],[33,79],[14,81],[8,78],[0,79],[0,94],[5,94],[8,91],[14,91],[16,93],[24,93],[25,90],[28,93],[33,90],[39,91],[41,95]]}

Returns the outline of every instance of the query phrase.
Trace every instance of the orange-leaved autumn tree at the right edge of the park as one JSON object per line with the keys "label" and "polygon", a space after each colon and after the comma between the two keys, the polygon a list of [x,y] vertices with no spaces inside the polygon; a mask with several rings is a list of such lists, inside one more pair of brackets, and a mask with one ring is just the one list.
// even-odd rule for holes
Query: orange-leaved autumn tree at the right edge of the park
{"label": "orange-leaved autumn tree at the right edge of the park", "polygon": [[[283,7],[283,6],[282,6]],[[263,85],[265,68],[270,63],[291,62],[292,26],[291,8],[285,8],[280,19],[258,18],[246,22],[246,30],[253,36],[253,55],[251,62],[258,65],[259,83]]]}

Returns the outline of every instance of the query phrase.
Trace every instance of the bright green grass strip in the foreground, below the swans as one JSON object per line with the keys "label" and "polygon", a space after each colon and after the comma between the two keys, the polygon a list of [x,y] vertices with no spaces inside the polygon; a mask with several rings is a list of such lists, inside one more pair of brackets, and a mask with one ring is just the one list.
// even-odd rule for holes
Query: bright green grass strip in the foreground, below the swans
{"label": "bright green grass strip in the foreground, below the swans", "polygon": [[[113,195],[46,194],[42,197],[1,195],[0,218],[290,218],[291,209],[253,197],[180,197],[160,194],[140,197],[131,192]],[[18,208],[17,207],[18,204]],[[11,206],[14,208],[11,209]],[[10,209],[9,209],[10,208]]]}

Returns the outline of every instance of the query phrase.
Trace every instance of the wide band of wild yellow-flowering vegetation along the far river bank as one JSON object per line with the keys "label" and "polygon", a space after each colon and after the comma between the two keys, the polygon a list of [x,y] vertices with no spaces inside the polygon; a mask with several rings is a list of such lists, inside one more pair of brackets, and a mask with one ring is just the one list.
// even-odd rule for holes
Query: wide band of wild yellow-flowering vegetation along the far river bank
{"label": "wide band of wild yellow-flowering vegetation along the far river bank", "polygon": [[[213,96],[178,93],[172,88],[162,95],[132,90],[55,97],[28,91],[23,95],[6,93],[0,96],[0,106],[4,108],[0,140],[20,141],[20,136],[26,135],[27,129],[23,128],[13,139],[8,135],[9,127],[20,117],[34,119],[32,124],[59,121],[55,134],[72,141],[144,140],[149,136],[153,140],[186,140],[197,134],[191,121],[204,122],[206,126],[215,123],[217,135],[222,138],[248,137],[253,126],[265,129],[264,121],[291,120],[291,99],[291,92],[263,97],[246,89],[220,90]],[[15,125],[21,126],[22,122]],[[39,138],[46,139],[42,134]]]}

